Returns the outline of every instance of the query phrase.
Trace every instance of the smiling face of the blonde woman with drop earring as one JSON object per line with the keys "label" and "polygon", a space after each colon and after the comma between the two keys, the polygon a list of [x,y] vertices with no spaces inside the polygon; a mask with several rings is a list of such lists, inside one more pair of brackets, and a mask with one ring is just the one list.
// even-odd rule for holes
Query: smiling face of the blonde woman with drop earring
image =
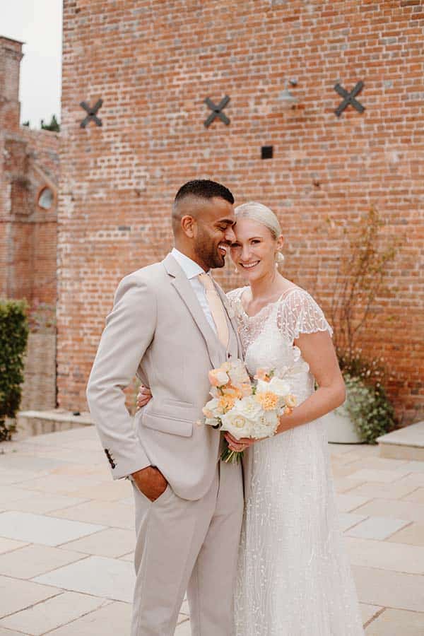
{"label": "smiling face of the blonde woman with drop earring", "polygon": [[276,252],[283,246],[266,225],[249,218],[237,219],[236,240],[231,246],[231,258],[247,280],[254,281],[275,271]]}

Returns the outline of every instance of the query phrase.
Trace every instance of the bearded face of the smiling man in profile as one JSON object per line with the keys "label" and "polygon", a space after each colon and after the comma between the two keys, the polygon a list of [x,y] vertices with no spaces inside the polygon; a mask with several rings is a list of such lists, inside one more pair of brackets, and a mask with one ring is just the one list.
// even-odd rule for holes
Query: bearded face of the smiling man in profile
{"label": "bearded face of the smiling man in profile", "polygon": [[196,215],[193,249],[197,261],[204,269],[214,269],[225,265],[225,255],[235,241],[232,229],[235,225],[234,208],[229,201],[214,196],[199,199],[201,210]]}

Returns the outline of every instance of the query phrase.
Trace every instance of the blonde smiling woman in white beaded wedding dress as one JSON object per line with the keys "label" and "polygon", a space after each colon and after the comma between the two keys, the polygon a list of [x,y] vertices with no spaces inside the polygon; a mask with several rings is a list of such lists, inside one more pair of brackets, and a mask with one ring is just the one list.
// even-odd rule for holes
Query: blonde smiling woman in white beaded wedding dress
{"label": "blonde smiling woman in white beaded wedding dress", "polygon": [[[278,271],[283,236],[275,214],[254,202],[235,213],[231,257],[249,284],[228,298],[247,370],[288,367],[285,379],[298,398],[274,437],[226,434],[231,449],[245,451],[235,634],[360,636],[321,419],[345,399],[331,327],[312,296]],[[147,390],[139,406],[146,399]]]}

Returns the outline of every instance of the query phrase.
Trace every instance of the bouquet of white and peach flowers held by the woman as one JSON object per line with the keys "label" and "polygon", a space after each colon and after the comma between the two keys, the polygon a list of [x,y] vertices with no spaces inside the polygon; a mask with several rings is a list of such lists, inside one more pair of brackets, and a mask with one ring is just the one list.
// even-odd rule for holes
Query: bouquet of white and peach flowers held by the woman
{"label": "bouquet of white and peach flowers held by the woman", "polygon": [[[280,417],[296,406],[290,385],[275,369],[258,369],[251,379],[241,360],[209,372],[211,396],[203,408],[203,424],[228,431],[237,440],[276,434]],[[242,452],[227,447],[223,461],[240,461]]]}

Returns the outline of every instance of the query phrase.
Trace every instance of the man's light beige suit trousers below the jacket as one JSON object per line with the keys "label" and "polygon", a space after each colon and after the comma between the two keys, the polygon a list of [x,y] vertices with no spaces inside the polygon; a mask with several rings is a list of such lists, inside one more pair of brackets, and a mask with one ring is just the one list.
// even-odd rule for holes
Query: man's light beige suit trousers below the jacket
{"label": "man's light beige suit trousers below the jacket", "polygon": [[211,488],[189,501],[167,486],[151,502],[133,482],[136,587],[131,636],[172,636],[187,589],[192,636],[231,636],[243,515],[242,470],[218,462]]}

